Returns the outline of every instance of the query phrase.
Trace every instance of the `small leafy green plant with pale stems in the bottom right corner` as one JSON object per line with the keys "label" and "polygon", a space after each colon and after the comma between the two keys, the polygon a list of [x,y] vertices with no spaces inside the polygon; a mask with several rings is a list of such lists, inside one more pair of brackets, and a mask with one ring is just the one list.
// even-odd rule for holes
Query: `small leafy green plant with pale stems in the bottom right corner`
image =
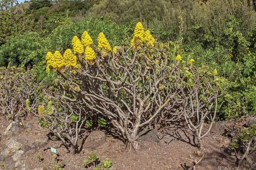
{"label": "small leafy green plant with pale stems in the bottom right corner", "polygon": [[[256,140],[256,124],[242,130],[236,139],[238,141],[232,141],[229,148],[235,152],[236,164],[240,167],[247,155],[256,151],[256,145],[253,143]],[[238,155],[237,150],[244,150],[243,155]]]}

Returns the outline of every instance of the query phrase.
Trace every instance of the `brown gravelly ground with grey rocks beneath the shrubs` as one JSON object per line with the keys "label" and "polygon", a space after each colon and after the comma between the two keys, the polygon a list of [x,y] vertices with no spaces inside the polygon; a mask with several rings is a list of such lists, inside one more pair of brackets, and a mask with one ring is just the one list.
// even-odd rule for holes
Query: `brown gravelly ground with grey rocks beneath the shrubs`
{"label": "brown gravelly ground with grey rocks beneath the shrubs", "polygon": [[[233,121],[219,121],[211,133],[202,141],[201,162],[196,170],[234,170],[236,158],[228,148],[230,140],[241,130],[255,123],[255,117]],[[103,131],[93,131],[83,143],[80,153],[68,153],[60,141],[50,138],[48,132],[27,128],[38,128],[36,120],[25,123],[14,121],[9,126],[0,123],[0,169],[41,170],[53,169],[57,162],[66,164],[65,170],[86,170],[82,162],[91,153],[97,153],[100,161],[112,159],[113,170],[191,170],[190,155],[196,159],[193,138],[190,132],[176,125],[160,130],[151,130],[139,139],[139,149],[127,153],[122,141],[106,136]],[[50,148],[57,149],[57,159]],[[36,155],[41,155],[41,161]],[[190,155],[189,155],[190,154]],[[244,161],[241,170],[255,170],[255,154]]]}

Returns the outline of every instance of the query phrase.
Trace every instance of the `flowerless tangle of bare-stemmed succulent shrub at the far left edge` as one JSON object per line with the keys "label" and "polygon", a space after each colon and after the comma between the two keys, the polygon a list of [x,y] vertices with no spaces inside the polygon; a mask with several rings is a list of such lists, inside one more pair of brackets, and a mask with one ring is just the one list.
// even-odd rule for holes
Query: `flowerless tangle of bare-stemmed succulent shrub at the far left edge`
{"label": "flowerless tangle of bare-stemmed succulent shrub at the far left edge", "polygon": [[36,110],[40,88],[33,69],[0,67],[0,115],[4,120],[32,115]]}

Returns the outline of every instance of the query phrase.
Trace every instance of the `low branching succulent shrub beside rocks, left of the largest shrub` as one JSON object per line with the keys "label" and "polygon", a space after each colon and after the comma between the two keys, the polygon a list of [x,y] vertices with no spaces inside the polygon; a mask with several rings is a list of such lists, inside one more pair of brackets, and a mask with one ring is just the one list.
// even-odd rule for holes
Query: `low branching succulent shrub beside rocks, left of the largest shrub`
{"label": "low branching succulent shrub beside rocks, left of the largest shrub", "polygon": [[[45,92],[46,90],[44,89]],[[62,91],[57,89],[49,90],[48,96],[44,96],[40,101],[46,107],[42,109],[43,112],[37,112],[35,115],[42,127],[53,132],[66,148],[75,153],[78,151],[79,136],[87,132],[87,128],[92,125],[87,119],[91,119],[90,116],[93,114],[89,114],[79,102],[70,103],[69,100],[54,98],[60,92]]]}

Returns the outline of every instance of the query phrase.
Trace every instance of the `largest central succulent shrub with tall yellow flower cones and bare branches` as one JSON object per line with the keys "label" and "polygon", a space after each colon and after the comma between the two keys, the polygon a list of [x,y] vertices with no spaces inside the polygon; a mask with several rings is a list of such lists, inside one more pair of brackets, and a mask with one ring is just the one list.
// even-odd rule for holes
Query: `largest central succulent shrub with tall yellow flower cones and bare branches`
{"label": "largest central succulent shrub with tall yellow flower cones and bare branches", "polygon": [[[141,23],[135,27],[133,36],[131,45],[116,47],[117,51],[111,51],[103,33],[98,36],[97,48],[82,45],[75,36],[71,57],[62,58],[58,52],[58,55],[48,52],[46,56],[47,67],[57,71],[62,77],[60,86],[72,94],[72,97],[64,94],[62,98],[79,101],[88,111],[111,120],[117,132],[125,137],[128,150],[136,144],[140,128],[169,102],[169,96],[157,97],[162,93],[159,85],[167,66],[165,49],[154,47],[153,36],[144,33]],[[77,62],[75,66],[69,64],[73,61]],[[149,118],[150,113],[153,116]]]}

